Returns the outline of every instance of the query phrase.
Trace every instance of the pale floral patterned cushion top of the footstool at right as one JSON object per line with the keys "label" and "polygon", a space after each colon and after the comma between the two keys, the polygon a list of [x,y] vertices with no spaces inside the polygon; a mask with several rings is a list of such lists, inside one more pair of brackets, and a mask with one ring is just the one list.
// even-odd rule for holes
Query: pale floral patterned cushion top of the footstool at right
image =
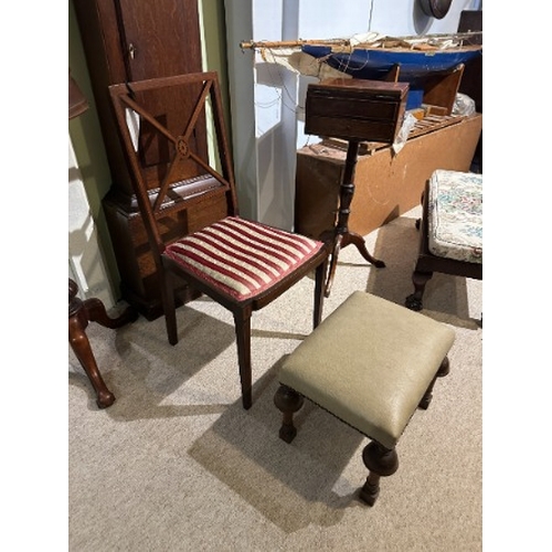
{"label": "pale floral patterned cushion top of the footstool at right", "polygon": [[429,251],[482,264],[482,174],[436,170],[428,200]]}

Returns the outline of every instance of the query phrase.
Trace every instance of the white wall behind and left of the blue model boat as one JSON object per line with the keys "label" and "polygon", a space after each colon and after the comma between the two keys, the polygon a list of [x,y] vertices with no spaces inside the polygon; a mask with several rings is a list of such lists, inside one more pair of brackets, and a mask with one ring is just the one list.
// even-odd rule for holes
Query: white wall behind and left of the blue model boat
{"label": "white wall behind and left of the blue model boat", "polygon": [[456,0],[436,20],[416,0],[226,0],[229,78],[234,163],[244,216],[291,230],[296,150],[302,134],[301,106],[309,77],[263,60],[242,41],[349,38],[454,32],[460,11],[481,0]]}

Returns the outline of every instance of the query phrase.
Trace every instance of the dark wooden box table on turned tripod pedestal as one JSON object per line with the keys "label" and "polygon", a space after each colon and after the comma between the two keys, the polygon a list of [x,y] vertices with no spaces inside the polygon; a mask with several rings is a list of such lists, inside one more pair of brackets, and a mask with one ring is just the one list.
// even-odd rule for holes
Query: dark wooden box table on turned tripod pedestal
{"label": "dark wooden box table on turned tripod pedestal", "polygon": [[408,85],[357,78],[330,78],[310,84],[305,105],[305,131],[348,141],[343,179],[339,191],[338,219],[331,235],[333,242],[325,295],[329,297],[339,252],[354,245],[376,267],[385,263],[367,250],[364,238],[349,230],[350,206],[354,194],[354,171],[361,141],[392,144],[403,121]]}

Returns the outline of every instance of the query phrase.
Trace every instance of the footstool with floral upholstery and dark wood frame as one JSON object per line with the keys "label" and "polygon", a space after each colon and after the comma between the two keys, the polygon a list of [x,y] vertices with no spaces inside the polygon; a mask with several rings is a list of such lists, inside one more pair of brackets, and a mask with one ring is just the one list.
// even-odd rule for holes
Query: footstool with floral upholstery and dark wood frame
{"label": "footstool with floral upholstery and dark wood frame", "polygon": [[425,187],[418,224],[414,293],[405,299],[412,310],[423,309],[434,272],[482,279],[482,174],[436,170]]}

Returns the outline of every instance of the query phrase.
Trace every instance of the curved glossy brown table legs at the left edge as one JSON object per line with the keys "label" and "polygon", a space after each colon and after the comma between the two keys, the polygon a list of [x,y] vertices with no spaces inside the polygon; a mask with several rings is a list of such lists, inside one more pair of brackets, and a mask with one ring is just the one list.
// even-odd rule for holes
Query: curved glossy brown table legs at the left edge
{"label": "curved glossy brown table legs at the left edge", "polygon": [[104,304],[99,299],[93,298],[83,301],[76,297],[77,291],[77,285],[70,278],[68,341],[96,392],[96,404],[99,408],[106,408],[115,402],[115,395],[107,389],[99,373],[88,336],[86,336],[88,321],[95,321],[106,328],[119,328],[127,322],[136,320],[138,314],[128,307],[119,317],[109,318]]}

